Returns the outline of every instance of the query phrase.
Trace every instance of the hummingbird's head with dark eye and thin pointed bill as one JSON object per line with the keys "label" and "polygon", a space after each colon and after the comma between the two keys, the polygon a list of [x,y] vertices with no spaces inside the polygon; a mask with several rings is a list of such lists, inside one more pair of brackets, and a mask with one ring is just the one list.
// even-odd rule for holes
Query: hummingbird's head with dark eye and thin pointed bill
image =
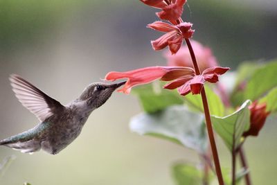
{"label": "hummingbird's head with dark eye and thin pointed bill", "polygon": [[124,84],[125,82],[119,82],[117,84],[92,83],[84,89],[79,100],[87,101],[89,107],[98,108],[109,99],[114,90]]}

